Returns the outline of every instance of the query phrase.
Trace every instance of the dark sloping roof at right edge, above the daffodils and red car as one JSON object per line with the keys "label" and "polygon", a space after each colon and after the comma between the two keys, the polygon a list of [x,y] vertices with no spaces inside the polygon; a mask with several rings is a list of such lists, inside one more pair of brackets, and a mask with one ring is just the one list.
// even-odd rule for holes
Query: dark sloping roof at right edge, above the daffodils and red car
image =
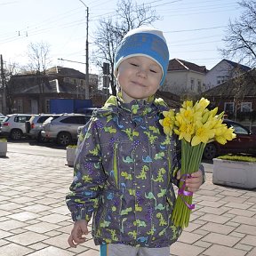
{"label": "dark sloping roof at right edge, above the daffodils and red car", "polygon": [[241,76],[236,76],[212,89],[205,91],[204,96],[234,97],[243,93],[244,96],[256,97],[256,69],[252,69]]}

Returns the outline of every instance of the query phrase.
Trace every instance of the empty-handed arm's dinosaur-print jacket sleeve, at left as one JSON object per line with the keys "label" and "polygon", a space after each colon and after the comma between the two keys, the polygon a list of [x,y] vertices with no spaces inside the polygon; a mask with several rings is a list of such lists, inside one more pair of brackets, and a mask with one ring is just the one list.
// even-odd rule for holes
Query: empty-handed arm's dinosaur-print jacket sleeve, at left
{"label": "empty-handed arm's dinosaur-print jacket sleeve, at left", "polygon": [[92,212],[99,204],[100,190],[106,175],[103,171],[100,156],[99,129],[93,118],[85,124],[79,136],[74,164],[74,180],[66,203],[72,219],[91,220]]}

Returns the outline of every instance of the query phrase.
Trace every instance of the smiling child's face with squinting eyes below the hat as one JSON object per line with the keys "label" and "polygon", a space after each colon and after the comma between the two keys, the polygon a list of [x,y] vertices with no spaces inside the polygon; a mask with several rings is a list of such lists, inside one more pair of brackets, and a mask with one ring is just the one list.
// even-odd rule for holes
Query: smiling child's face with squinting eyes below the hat
{"label": "smiling child's face with squinting eyes below the hat", "polygon": [[156,61],[144,56],[128,58],[117,70],[117,82],[124,102],[148,100],[156,93],[162,78],[162,68]]}

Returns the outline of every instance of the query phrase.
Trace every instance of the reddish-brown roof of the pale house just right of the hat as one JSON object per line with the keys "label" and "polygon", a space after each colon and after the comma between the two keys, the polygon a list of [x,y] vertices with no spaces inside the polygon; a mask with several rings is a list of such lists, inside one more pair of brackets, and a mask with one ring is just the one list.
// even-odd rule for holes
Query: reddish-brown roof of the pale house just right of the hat
{"label": "reddish-brown roof of the pale house just right of the hat", "polygon": [[195,63],[188,62],[186,60],[172,59],[169,60],[168,71],[177,70],[190,70],[199,73],[206,73],[207,69],[205,66],[198,66]]}

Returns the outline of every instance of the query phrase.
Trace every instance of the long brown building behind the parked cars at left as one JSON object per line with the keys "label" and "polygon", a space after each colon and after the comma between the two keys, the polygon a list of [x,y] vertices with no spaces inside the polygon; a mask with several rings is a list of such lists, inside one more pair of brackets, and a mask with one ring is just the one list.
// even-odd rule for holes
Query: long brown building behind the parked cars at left
{"label": "long brown building behind the parked cars at left", "polygon": [[[9,113],[49,113],[51,99],[85,98],[85,75],[73,68],[53,67],[45,75],[12,76],[7,89]],[[89,94],[97,90],[98,76],[90,74]]]}

